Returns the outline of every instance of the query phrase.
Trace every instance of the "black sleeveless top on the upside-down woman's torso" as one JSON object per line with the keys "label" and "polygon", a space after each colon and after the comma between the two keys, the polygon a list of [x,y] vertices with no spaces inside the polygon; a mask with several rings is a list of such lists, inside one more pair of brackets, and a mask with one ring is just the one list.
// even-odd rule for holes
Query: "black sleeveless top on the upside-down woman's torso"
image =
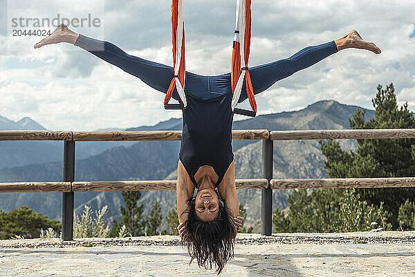
{"label": "black sleeveless top on the upside-down woman's torso", "polygon": [[212,166],[221,183],[233,161],[232,152],[232,94],[202,100],[186,95],[183,109],[183,132],[179,159],[197,188],[194,174],[199,167]]}

